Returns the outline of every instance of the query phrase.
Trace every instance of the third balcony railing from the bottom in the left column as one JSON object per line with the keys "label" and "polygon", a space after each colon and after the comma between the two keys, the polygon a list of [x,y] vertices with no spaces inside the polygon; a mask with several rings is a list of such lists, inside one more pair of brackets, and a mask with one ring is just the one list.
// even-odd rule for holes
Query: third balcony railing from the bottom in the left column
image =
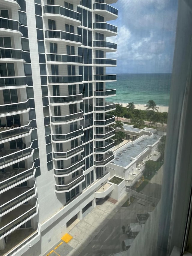
{"label": "third balcony railing from the bottom in the left column", "polygon": [[28,191],[20,194],[17,197],[14,197],[9,202],[4,203],[3,205],[1,205],[0,206],[0,215],[4,212],[7,212],[8,210],[13,208],[14,206],[18,205],[19,203],[22,203],[23,201],[27,201],[27,199],[29,200],[31,197],[35,196],[35,190],[36,190],[35,188],[36,188],[36,181],[35,181],[34,186],[32,188],[29,188]]}

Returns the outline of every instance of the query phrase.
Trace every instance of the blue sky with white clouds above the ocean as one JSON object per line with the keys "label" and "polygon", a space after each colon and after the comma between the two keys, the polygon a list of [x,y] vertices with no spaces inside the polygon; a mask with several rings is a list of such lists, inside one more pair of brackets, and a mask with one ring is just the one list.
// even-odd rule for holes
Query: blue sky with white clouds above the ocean
{"label": "blue sky with white clouds above the ocean", "polygon": [[107,21],[118,27],[117,67],[106,74],[171,73],[176,34],[177,0],[118,0],[118,19]]}

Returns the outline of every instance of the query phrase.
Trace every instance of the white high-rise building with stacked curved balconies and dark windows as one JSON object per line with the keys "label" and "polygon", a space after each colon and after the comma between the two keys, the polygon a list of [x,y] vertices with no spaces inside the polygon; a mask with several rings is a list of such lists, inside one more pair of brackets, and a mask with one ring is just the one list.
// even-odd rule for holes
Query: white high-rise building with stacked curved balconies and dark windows
{"label": "white high-rise building with stacked curved balconies and dark windows", "polygon": [[117,0],[0,0],[0,255],[43,255],[114,158]]}

